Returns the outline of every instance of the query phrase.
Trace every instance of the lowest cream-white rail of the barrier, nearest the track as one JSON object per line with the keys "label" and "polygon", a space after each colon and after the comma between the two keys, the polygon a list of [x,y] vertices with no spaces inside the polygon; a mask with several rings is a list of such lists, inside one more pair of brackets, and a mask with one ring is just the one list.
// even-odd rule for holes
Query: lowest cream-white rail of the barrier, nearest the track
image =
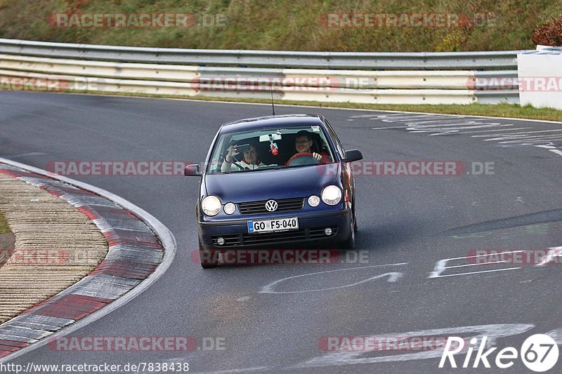
{"label": "lowest cream-white rail of the barrier, nearest the track", "polygon": [[[64,74],[18,72],[0,69],[0,88],[25,91],[74,91],[89,93],[141,93],[173,96],[205,96],[213,98],[270,99],[270,91],[256,86],[223,86],[193,84],[189,82],[149,81],[141,79],[113,79]],[[274,88],[275,100],[318,102],[362,102],[379,104],[470,104],[476,101],[471,90],[400,90],[400,89],[349,89],[349,88],[299,88],[283,86]]]}

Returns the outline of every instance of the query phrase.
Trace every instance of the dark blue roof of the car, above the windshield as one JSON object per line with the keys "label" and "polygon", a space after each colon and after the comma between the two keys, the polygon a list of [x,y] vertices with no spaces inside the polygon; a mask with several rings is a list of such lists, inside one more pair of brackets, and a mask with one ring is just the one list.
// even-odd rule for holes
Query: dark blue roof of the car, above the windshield
{"label": "dark blue roof of the car, above the windshield", "polygon": [[234,131],[249,131],[258,128],[280,128],[292,126],[322,125],[321,114],[283,114],[279,116],[263,116],[248,119],[240,119],[224,123],[221,132],[230,133]]}

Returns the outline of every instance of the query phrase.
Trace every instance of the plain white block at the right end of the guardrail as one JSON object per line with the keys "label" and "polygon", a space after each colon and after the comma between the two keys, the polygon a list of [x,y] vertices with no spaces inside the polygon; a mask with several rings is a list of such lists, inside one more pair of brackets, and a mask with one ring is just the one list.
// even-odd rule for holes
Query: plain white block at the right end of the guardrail
{"label": "plain white block at the right end of the guardrail", "polygon": [[517,59],[521,105],[562,109],[562,55],[520,54]]}

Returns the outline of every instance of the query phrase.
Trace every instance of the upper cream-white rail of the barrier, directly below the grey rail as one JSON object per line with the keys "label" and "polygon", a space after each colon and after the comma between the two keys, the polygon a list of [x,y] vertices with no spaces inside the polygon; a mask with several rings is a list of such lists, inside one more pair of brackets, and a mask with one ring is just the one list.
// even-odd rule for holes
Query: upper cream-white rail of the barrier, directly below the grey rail
{"label": "upper cream-white rail of the barrier, directly below the grey rail", "polygon": [[[224,79],[262,79],[263,85],[334,88],[473,89],[473,70],[384,71],[324,69],[260,69],[241,67],[198,67],[36,58],[0,55],[0,69],[19,72],[97,76],[112,79],[205,82]],[[281,80],[282,79],[282,80]]]}

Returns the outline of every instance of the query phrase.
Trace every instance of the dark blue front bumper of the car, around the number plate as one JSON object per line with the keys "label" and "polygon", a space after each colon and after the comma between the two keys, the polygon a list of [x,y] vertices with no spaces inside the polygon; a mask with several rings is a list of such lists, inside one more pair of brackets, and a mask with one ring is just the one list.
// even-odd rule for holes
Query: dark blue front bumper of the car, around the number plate
{"label": "dark blue front bumper of the car, around the number plate", "polygon": [[[312,245],[344,241],[351,233],[351,209],[341,211],[298,214],[287,212],[275,218],[299,218],[299,230],[249,234],[247,222],[253,220],[225,220],[198,222],[202,249],[271,248],[273,246]],[[273,218],[272,218],[273,219]],[[326,227],[332,234],[324,233]],[[218,246],[216,239],[222,236],[225,243]]]}

